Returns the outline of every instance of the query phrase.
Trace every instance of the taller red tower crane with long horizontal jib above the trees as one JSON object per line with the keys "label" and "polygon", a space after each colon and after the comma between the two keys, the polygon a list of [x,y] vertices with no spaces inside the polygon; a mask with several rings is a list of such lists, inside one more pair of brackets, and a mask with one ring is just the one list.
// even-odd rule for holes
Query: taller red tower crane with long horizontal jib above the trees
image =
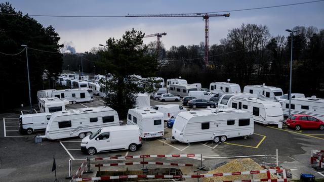
{"label": "taller red tower crane with long horizontal jib above the trees", "polygon": [[205,21],[205,65],[209,64],[208,61],[208,50],[209,50],[209,17],[229,17],[227,14],[213,14],[213,13],[192,13],[192,14],[147,14],[147,15],[130,15],[126,17],[151,17],[151,18],[172,18],[172,17],[203,17]]}

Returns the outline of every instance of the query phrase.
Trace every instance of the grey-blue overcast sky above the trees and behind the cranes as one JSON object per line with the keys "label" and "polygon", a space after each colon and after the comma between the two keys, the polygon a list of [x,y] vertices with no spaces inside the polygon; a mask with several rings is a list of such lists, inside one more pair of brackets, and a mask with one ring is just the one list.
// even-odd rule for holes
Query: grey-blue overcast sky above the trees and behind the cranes
{"label": "grey-blue overcast sky above the trees and behind the cranes", "polygon": [[[308,2],[311,0],[233,0],[233,1],[10,1],[17,11],[39,15],[106,16],[127,14],[202,13],[257,8]],[[4,1],[3,1],[4,3]],[[59,33],[60,43],[69,43],[76,52],[89,51],[98,44],[105,44],[109,37],[120,38],[126,30],[135,28],[146,34],[166,32],[161,40],[166,49],[172,45],[199,44],[205,39],[205,24],[201,17],[190,18],[55,18],[33,17],[45,27],[53,25]],[[324,2],[270,9],[231,12],[229,18],[211,17],[209,44],[219,43],[229,29],[242,23],[267,25],[273,36],[288,35],[285,29],[296,25],[324,28]],[[145,38],[144,43],[156,40]]]}

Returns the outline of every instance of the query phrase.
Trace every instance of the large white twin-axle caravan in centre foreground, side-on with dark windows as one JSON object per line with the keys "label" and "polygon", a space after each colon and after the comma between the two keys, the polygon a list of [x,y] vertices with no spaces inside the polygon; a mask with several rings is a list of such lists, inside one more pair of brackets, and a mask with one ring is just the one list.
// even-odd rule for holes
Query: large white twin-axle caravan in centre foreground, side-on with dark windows
{"label": "large white twin-axle caravan in centre foreground, side-on with dark windows", "polygon": [[225,142],[228,138],[254,132],[251,113],[237,109],[195,110],[181,112],[172,128],[172,138],[179,142]]}

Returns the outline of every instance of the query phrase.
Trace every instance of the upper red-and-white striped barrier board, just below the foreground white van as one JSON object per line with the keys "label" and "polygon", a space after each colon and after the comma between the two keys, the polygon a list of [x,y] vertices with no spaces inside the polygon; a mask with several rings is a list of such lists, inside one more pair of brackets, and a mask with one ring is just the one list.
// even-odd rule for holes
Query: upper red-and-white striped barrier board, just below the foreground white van
{"label": "upper red-and-white striped barrier board, just below the foreground white van", "polygon": [[137,158],[165,158],[165,157],[200,157],[201,154],[154,154],[154,155],[138,155],[138,156],[120,156],[120,157],[104,157],[104,158],[92,158],[90,160],[118,160],[118,159],[137,159]]}

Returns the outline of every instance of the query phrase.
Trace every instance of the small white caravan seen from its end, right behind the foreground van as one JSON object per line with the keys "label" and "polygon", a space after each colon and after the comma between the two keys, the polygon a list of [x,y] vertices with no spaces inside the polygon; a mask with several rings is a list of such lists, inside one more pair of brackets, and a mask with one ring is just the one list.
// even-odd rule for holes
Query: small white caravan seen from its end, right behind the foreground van
{"label": "small white caravan seen from its end, right behind the foreground van", "polygon": [[164,135],[164,114],[151,108],[128,110],[127,124],[138,125],[141,138],[154,138]]}

